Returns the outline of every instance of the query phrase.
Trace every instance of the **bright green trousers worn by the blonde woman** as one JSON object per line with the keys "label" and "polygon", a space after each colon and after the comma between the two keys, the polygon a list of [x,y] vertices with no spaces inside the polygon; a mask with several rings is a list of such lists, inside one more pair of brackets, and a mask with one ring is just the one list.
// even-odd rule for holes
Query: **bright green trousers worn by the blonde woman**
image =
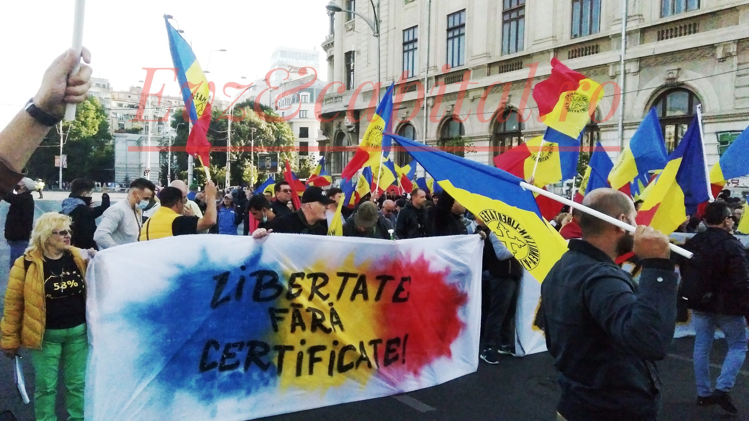
{"label": "bright green trousers worn by the blonde woman", "polygon": [[68,420],[83,420],[83,386],[85,384],[88,336],[86,324],[70,329],[46,330],[40,350],[31,350],[34,365],[34,412],[37,421],[57,421],[55,397],[62,363],[65,382],[65,406]]}

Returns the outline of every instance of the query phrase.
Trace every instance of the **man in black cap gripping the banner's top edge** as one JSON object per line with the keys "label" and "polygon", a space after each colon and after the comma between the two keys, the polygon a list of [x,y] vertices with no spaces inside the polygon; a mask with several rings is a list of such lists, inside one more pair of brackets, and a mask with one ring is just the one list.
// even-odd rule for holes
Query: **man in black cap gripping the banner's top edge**
{"label": "man in black cap gripping the banner's top edge", "polygon": [[[286,216],[278,217],[273,223],[273,232],[286,232],[288,234],[314,234],[327,235],[327,220],[325,210],[327,205],[335,203],[329,199],[321,187],[309,187],[302,195],[302,207],[296,212]],[[259,231],[259,232],[258,232]],[[264,237],[265,231],[260,228],[252,234],[253,237]]]}

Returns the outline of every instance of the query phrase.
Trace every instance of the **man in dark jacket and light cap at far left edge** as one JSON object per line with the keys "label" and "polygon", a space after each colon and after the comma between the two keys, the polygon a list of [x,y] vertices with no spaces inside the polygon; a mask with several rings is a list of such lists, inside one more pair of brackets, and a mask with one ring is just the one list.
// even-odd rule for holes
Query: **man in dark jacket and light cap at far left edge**
{"label": "man in dark jacket and light cap at far left edge", "polygon": [[28,239],[31,238],[31,228],[34,228],[34,197],[31,192],[36,188],[36,182],[25,177],[16,184],[16,193],[7,192],[2,198],[10,203],[5,216],[5,240],[10,247],[10,267],[23,254],[28,247]]}

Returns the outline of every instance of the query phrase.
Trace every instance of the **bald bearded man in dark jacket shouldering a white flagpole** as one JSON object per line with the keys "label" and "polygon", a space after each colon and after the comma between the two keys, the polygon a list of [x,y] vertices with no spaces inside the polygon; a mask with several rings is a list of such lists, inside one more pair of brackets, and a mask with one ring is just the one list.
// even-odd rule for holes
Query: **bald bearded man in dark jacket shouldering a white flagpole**
{"label": "bald bearded man in dark jacket shouldering a white flagpole", "polygon": [[[634,225],[624,193],[596,189],[583,205]],[[668,237],[638,226],[634,236],[595,216],[573,212],[581,239],[541,285],[546,345],[562,390],[557,419],[655,421],[661,405],[662,360],[676,327],[678,277]],[[634,251],[642,272],[636,284],[615,261]]]}

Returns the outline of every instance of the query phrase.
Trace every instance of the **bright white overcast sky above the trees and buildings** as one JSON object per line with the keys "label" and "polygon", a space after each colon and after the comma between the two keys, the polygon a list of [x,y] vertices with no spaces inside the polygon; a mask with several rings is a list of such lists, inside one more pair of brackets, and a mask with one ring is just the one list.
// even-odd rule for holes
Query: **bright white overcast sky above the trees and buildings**
{"label": "bright white overcast sky above the trees and buildings", "polygon": [[[34,96],[49,63],[70,48],[73,0],[6,1],[0,39],[5,65],[0,70],[0,127]],[[143,67],[172,67],[163,15],[175,16],[185,39],[221,91],[225,82],[264,76],[278,46],[321,52],[321,79],[327,65],[320,44],[327,34],[327,0],[88,0],[83,45],[91,50],[94,77],[109,79],[113,90],[142,85]],[[176,23],[172,21],[176,26]],[[168,76],[172,76],[171,78]],[[240,79],[246,76],[247,79]],[[178,93],[173,73],[160,72],[155,90]],[[154,89],[152,89],[153,91]],[[233,95],[234,91],[227,91]],[[222,96],[221,96],[222,97]],[[219,98],[221,98],[219,97]],[[227,99],[223,97],[222,99]]]}

